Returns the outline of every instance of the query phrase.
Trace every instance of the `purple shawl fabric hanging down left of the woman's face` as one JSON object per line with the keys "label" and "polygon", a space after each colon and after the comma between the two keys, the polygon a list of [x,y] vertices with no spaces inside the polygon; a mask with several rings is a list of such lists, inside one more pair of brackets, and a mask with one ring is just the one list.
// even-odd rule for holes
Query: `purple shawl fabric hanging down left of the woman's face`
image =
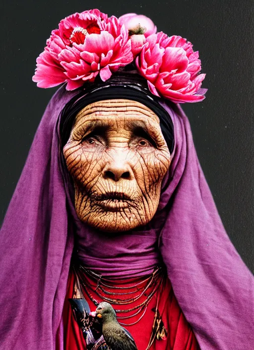
{"label": "purple shawl fabric hanging down left of the woman's face", "polygon": [[49,102],[0,232],[0,349],[55,349],[73,249],[60,170],[58,115]]}

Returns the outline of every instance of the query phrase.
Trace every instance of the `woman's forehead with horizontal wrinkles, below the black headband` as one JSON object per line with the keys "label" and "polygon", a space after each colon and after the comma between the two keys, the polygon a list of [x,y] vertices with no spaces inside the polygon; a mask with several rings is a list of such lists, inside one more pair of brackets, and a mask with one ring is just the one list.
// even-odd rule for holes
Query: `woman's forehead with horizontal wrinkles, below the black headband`
{"label": "woman's forehead with horizontal wrinkles, below the black headband", "polygon": [[[106,117],[106,118],[105,118]],[[81,109],[75,118],[74,126],[80,123],[104,119],[104,122],[112,122],[115,118],[126,120],[140,120],[143,122],[157,122],[159,117],[146,105],[129,99],[108,99],[88,104]]]}

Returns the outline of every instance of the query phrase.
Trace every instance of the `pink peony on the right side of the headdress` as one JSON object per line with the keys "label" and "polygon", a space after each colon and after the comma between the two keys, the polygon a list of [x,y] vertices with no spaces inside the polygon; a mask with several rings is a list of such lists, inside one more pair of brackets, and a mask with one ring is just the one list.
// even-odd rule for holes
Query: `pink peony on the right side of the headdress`
{"label": "pink peony on the right side of the headdress", "polygon": [[206,89],[200,88],[205,74],[198,75],[198,51],[193,52],[192,44],[181,36],[150,35],[135,62],[153,94],[176,103],[205,98]]}

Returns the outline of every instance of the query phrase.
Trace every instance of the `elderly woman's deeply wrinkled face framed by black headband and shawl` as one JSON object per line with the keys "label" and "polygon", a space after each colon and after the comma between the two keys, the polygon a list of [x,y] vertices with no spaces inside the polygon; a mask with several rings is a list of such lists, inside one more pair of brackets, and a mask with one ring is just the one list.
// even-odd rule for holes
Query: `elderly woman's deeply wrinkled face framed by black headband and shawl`
{"label": "elderly woman's deeply wrinkled face framed by black headband and shawl", "polygon": [[148,107],[127,99],[89,104],[75,118],[64,158],[81,221],[117,232],[152,219],[170,153]]}

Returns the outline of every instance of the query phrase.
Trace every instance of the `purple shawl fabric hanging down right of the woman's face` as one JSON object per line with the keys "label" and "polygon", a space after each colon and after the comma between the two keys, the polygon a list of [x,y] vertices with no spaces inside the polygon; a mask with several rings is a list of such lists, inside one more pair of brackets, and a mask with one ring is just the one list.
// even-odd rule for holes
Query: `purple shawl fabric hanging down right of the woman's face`
{"label": "purple shawl fabric hanging down right of the woman's face", "polygon": [[253,275],[225,232],[188,118],[181,109],[176,113],[163,106],[172,117],[177,146],[169,169],[172,181],[161,195],[159,209],[170,202],[170,210],[159,247],[174,293],[201,350],[251,350]]}

